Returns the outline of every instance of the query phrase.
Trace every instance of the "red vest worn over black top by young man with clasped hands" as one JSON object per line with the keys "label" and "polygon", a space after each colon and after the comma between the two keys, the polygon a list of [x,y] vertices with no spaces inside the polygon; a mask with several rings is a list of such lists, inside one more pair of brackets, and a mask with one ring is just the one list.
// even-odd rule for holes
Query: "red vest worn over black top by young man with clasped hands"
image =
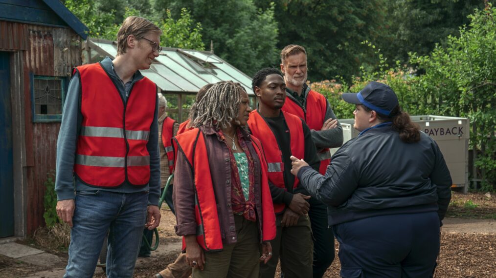
{"label": "red vest worn over black top by young man with clasped hands", "polygon": [[[281,111],[284,120],[289,128],[290,150],[291,154],[297,158],[303,159],[305,156],[305,135],[303,134],[302,119],[295,115]],[[258,110],[251,111],[248,119],[248,127],[251,134],[256,138],[261,138],[265,159],[267,161],[267,176],[271,183],[277,187],[287,190],[284,184],[284,163],[282,161],[282,152],[279,149],[274,133]],[[293,188],[297,187],[300,181],[295,177]],[[284,210],[285,204],[274,204],[275,213]]]}

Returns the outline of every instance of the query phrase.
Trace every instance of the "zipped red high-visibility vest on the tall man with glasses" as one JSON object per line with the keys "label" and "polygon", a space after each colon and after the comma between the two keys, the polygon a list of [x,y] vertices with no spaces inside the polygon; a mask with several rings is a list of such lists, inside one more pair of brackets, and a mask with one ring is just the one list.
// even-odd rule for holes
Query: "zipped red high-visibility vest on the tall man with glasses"
{"label": "zipped red high-visibility vest on the tall man with glasses", "polygon": [[74,173],[83,183],[116,187],[127,181],[144,186],[150,179],[146,149],[155,114],[157,86],[136,81],[124,106],[121,93],[100,63],[79,66],[81,130]]}

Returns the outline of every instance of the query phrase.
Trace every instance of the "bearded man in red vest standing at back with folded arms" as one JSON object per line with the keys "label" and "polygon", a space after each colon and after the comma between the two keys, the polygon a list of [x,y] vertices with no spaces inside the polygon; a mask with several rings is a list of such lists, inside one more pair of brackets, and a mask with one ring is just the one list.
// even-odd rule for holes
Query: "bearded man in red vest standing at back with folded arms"
{"label": "bearded man in red vest standing at back with folded arms", "polygon": [[[281,71],[286,83],[287,100],[283,111],[303,120],[311,130],[311,137],[320,160],[320,174],[329,165],[329,148],[343,144],[343,129],[337,121],[329,101],[312,91],[307,81],[307,52],[303,46],[289,45],[281,51]],[[334,234],[328,228],[327,208],[310,199],[310,222],[313,233],[313,277],[321,278],[334,260]]]}

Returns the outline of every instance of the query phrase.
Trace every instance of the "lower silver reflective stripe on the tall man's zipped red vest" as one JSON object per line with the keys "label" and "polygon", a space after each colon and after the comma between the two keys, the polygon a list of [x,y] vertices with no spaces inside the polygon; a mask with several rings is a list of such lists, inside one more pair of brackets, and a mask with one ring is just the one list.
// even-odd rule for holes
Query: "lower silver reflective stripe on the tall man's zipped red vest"
{"label": "lower silver reflective stripe on the tall man's zipped red vest", "polygon": [[[124,167],[124,157],[114,156],[92,156],[76,154],[76,164],[85,166],[99,167]],[[150,165],[149,156],[128,156],[127,166],[148,166]]]}

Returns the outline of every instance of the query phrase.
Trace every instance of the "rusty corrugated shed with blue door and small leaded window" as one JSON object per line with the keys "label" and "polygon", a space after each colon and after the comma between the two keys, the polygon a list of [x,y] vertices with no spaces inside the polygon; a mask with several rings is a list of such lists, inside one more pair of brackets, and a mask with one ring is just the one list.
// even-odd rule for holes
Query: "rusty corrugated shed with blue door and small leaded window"
{"label": "rusty corrugated shed with blue door and small leaded window", "polygon": [[87,31],[59,0],[0,0],[0,238],[44,225],[44,183]]}

